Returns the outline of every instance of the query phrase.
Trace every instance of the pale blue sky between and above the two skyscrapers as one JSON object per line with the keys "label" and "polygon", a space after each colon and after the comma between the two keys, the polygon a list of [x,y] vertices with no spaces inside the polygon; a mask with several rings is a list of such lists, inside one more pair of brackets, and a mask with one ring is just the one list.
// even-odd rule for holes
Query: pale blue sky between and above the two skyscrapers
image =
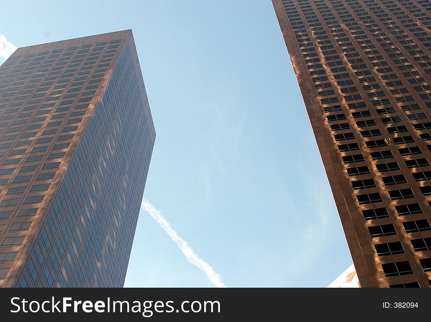
{"label": "pale blue sky between and above the two skyscrapers", "polygon": [[[157,132],[144,197],[228,287],[330,284],[352,260],[270,0],[1,5],[17,47],[129,28]],[[142,210],[125,286],[214,285]]]}

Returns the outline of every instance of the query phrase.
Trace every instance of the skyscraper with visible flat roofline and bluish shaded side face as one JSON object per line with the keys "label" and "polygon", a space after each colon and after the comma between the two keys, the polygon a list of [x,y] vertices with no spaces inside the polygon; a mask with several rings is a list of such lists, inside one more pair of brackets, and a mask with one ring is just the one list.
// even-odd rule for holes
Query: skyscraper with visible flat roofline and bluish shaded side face
{"label": "skyscraper with visible flat roofline and bluish shaded side face", "polygon": [[121,287],[155,131],[131,30],[0,67],[0,286]]}

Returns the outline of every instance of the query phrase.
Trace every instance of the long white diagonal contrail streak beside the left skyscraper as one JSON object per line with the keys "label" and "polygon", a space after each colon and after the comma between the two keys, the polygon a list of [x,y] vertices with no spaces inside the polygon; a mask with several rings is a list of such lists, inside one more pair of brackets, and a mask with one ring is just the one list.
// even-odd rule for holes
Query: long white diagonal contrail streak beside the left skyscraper
{"label": "long white diagonal contrail streak beside the left skyscraper", "polygon": [[148,200],[142,200],[141,208],[143,208],[147,213],[153,217],[156,222],[165,230],[168,236],[177,244],[178,248],[181,249],[183,254],[186,256],[187,260],[193,265],[197,266],[201,269],[205,274],[207,274],[208,279],[213,283],[216,287],[226,287],[221,281],[220,275],[217,274],[214,269],[205,262],[202,258],[200,258],[194,250],[187,245],[187,242],[178,236],[177,232],[172,229],[168,221],[163,217],[162,213],[158,211],[154,206],[149,203]]}

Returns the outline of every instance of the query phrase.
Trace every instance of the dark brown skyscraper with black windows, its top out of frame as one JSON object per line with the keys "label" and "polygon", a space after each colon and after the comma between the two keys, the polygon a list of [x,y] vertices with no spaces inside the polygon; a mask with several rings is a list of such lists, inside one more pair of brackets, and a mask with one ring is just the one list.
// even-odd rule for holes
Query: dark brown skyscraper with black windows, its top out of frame
{"label": "dark brown skyscraper with black windows, its top out of frame", "polygon": [[431,1],[272,3],[360,286],[430,287]]}

